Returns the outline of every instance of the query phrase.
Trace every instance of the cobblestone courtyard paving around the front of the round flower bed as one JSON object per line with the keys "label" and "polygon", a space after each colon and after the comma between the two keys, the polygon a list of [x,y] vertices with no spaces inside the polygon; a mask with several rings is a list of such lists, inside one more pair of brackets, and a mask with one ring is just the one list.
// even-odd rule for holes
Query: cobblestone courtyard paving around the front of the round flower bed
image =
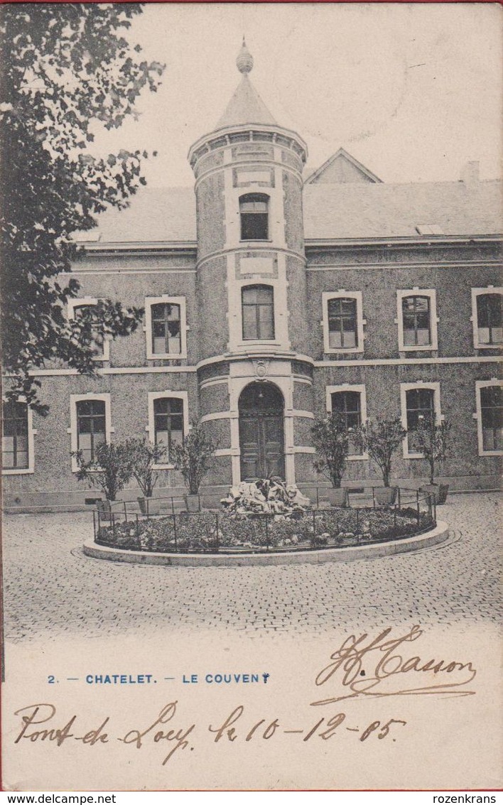
{"label": "cobblestone courtyard paving around the front of the round flower bed", "polygon": [[450,523],[451,540],[418,553],[318,566],[156,568],[86,557],[89,514],[6,516],[6,638],[500,621],[497,495],[452,496],[439,519]]}

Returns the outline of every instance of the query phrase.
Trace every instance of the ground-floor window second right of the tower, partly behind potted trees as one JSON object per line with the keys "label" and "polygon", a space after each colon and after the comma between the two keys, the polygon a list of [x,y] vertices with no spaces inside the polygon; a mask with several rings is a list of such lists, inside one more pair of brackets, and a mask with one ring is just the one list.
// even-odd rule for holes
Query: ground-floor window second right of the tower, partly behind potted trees
{"label": "ground-floor window second right of the tower, partly behind potted trees", "polygon": [[421,458],[417,435],[421,423],[441,420],[439,383],[402,383],[402,426],[407,430],[403,444],[405,458]]}

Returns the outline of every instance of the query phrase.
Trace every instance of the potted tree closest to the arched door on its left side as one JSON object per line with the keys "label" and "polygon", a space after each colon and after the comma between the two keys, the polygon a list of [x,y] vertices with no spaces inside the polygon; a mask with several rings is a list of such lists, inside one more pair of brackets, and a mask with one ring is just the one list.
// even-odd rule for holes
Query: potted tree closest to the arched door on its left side
{"label": "potted tree closest to the arched door on its left side", "polygon": [[175,444],[171,449],[175,469],[182,473],[188,489],[185,505],[189,512],[200,510],[199,488],[212,465],[213,453],[217,447],[218,443],[208,436],[204,427],[193,423],[182,444]]}

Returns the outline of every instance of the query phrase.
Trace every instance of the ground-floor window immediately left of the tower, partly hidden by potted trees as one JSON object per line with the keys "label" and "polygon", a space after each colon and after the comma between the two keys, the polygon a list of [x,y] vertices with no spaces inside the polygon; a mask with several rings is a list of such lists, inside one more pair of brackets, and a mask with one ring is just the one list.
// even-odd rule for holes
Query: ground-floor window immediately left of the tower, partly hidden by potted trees
{"label": "ground-floor window immediately left of the tower, partly hidden by potted trees", "polygon": [[187,391],[150,391],[148,395],[149,424],[146,430],[150,441],[166,448],[159,469],[173,466],[172,449],[188,434]]}

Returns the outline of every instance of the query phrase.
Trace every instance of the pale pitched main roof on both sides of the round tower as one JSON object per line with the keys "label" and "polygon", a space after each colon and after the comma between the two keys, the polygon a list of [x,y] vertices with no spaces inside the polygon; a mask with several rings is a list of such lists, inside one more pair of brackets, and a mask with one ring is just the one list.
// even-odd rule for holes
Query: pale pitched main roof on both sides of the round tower
{"label": "pale pitched main roof on both sides of the round tower", "polygon": [[[303,196],[307,241],[419,237],[418,226],[449,235],[501,233],[501,182],[307,184]],[[196,242],[193,188],[142,188],[130,207],[109,210],[85,242]]]}

